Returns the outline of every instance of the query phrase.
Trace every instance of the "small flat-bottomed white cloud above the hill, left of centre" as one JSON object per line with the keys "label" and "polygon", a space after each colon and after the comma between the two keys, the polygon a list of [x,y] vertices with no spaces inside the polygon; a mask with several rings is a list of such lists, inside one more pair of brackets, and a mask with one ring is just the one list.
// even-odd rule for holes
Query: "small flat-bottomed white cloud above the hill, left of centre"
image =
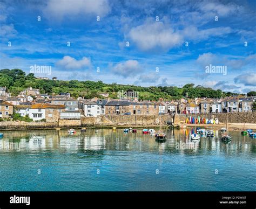
{"label": "small flat-bottomed white cloud above the hill, left of centre", "polygon": [[86,57],[76,60],[70,56],[64,56],[62,60],[56,62],[56,65],[64,69],[83,69],[91,67],[91,60]]}

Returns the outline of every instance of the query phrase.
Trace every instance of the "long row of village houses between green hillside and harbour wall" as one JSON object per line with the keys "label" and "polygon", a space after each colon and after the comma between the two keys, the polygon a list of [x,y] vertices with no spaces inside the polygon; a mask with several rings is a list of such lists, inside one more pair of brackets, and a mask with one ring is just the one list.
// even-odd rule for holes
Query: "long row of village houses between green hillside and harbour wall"
{"label": "long row of village houses between green hillside and harbour wall", "polygon": [[[2,90],[2,91],[1,91]],[[40,94],[39,89],[27,88],[11,97],[0,87],[0,118],[18,113],[28,115],[33,121],[55,122],[59,119],[80,119],[99,115],[159,115],[251,112],[255,97],[227,97],[225,99],[180,99],[177,101],[133,101],[128,99],[86,100],[73,99],[69,93]]]}

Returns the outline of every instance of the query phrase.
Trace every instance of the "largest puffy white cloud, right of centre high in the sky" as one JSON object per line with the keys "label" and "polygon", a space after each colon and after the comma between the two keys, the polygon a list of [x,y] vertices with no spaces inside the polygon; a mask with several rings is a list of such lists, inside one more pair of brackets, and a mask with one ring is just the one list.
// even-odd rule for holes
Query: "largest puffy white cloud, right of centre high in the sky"
{"label": "largest puffy white cloud, right of centre high in the sky", "polygon": [[135,43],[142,51],[168,51],[183,44],[182,36],[174,32],[170,25],[150,20],[132,27],[127,37],[131,39],[131,44]]}

